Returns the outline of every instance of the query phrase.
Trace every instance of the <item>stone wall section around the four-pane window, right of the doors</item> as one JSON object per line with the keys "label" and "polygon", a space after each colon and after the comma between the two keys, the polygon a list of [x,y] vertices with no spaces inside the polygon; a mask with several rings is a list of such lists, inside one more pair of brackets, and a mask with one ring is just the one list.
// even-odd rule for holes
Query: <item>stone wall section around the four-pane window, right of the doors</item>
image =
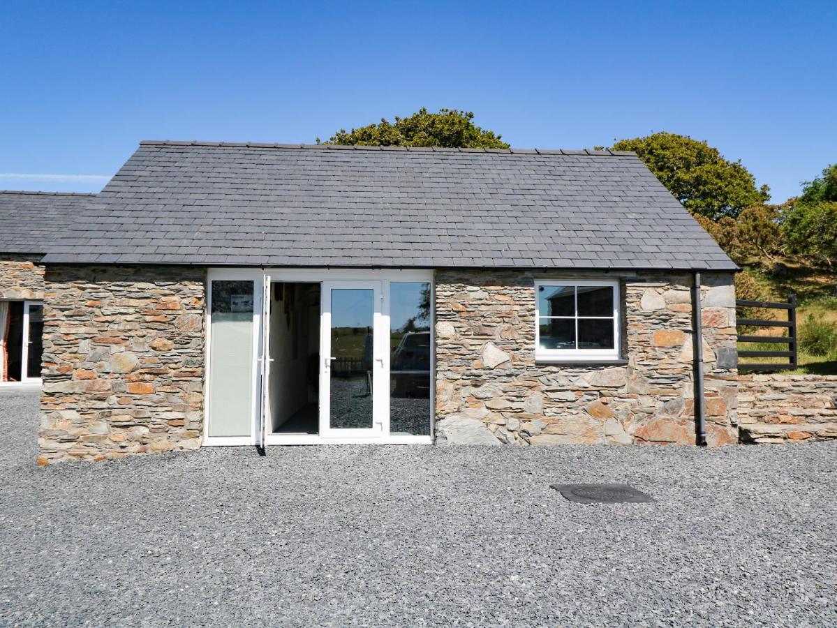
{"label": "stone wall section around the four-pane window, right of the doors", "polygon": [[[619,278],[624,365],[535,361],[535,279]],[[468,425],[503,443],[696,442],[689,273],[436,273],[437,442]],[[702,291],[710,445],[737,442],[732,273]],[[478,442],[479,437],[473,437]]]}

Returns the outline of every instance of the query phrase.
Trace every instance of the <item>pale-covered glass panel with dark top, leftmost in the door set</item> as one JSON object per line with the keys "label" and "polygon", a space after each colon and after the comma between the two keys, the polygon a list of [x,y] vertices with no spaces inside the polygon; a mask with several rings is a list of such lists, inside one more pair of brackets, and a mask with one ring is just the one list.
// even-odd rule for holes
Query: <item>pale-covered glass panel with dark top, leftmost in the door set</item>
{"label": "pale-covered glass panel with dark top, leftmost in the door set", "polygon": [[211,283],[210,437],[251,437],[254,408],[254,282]]}

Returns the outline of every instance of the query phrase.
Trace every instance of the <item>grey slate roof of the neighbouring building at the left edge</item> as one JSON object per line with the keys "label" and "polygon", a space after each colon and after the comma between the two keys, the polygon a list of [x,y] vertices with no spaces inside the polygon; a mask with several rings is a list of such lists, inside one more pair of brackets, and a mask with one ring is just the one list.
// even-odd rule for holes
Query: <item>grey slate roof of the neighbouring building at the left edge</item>
{"label": "grey slate roof of the neighbouring building at the left edge", "polygon": [[0,191],[0,253],[44,254],[95,194]]}

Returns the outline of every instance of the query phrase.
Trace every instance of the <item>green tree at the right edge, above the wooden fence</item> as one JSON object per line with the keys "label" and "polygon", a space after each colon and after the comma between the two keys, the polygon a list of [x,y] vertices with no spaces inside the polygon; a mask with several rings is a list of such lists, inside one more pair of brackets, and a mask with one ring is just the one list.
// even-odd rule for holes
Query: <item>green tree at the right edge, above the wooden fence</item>
{"label": "green tree at the right edge, above the wooden fence", "polygon": [[837,164],[806,181],[802,194],[788,201],[782,230],[791,253],[834,268],[837,264]]}

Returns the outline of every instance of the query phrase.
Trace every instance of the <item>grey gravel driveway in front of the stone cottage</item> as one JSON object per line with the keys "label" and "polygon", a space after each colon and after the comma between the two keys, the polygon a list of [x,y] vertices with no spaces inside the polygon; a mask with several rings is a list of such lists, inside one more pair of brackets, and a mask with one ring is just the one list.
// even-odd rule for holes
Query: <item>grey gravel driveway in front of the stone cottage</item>
{"label": "grey gravel driveway in front of the stone cottage", "polygon": [[[0,396],[0,623],[834,625],[837,443],[205,448],[34,466]],[[652,504],[569,503],[629,482]]]}

